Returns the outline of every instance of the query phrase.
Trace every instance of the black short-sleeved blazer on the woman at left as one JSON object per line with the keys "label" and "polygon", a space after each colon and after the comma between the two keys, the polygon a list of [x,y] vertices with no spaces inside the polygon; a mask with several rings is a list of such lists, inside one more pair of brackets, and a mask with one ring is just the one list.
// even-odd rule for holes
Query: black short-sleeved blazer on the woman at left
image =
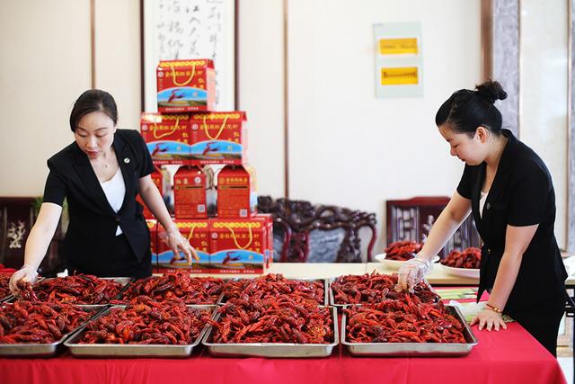
{"label": "black short-sleeved blazer on the woman at left", "polygon": [[137,130],[117,129],[112,145],[126,184],[118,213],[112,210],[88,156],[75,142],[48,160],[44,202],[62,205],[67,198],[70,223],[63,246],[66,264],[87,271],[101,270],[102,257],[113,257],[111,244],[118,225],[138,261],[149,255],[150,234],[136,196],[138,180],[154,170],[152,159]]}

